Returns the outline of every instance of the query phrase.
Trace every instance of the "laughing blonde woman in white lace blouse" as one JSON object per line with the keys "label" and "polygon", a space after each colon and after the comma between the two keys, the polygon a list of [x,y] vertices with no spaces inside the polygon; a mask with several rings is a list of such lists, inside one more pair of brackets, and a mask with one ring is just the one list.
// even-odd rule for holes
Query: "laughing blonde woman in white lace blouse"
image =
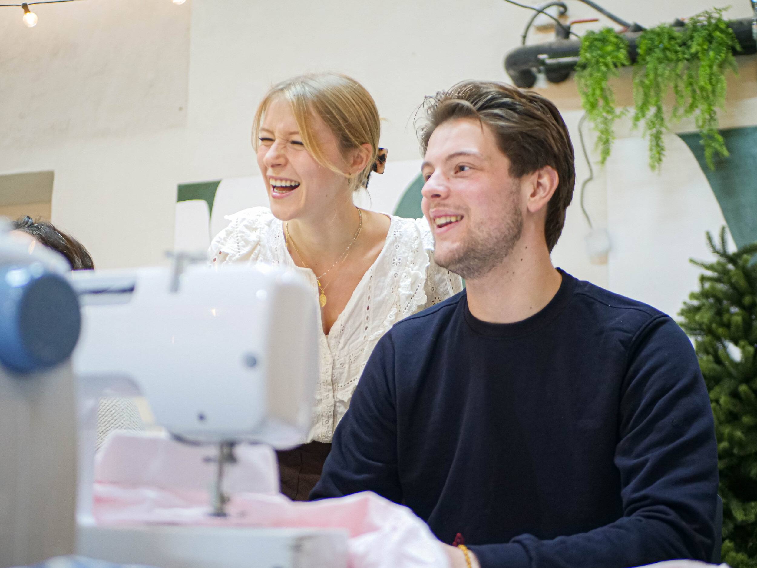
{"label": "laughing blonde woman in white lace blouse", "polygon": [[434,262],[425,220],[357,208],[353,195],[381,171],[371,95],[344,75],[297,76],[260,102],[252,144],[270,209],[229,217],[210,245],[213,264],[296,270],[320,303],[319,383],[304,445],[280,451],[282,492],[307,500],[378,339],[397,321],[460,292]]}

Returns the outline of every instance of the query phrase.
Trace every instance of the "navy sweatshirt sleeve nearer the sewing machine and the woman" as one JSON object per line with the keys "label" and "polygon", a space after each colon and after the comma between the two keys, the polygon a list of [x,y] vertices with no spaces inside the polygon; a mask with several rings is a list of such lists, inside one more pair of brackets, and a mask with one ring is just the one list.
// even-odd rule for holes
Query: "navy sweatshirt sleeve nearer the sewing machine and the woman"
{"label": "navy sweatshirt sleeve nearer the sewing machine and the woman", "polygon": [[391,331],[375,346],[357,383],[350,408],[336,427],[332,450],[310,500],[372,491],[402,501],[397,473],[397,411],[394,404]]}

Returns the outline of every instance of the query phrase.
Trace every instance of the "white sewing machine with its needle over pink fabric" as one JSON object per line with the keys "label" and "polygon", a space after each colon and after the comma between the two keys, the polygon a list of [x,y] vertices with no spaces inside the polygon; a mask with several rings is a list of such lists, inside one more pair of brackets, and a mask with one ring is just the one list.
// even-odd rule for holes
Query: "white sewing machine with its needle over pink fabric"
{"label": "white sewing machine with its needle over pink fabric", "polygon": [[[74,273],[83,331],[78,552],[159,568],[346,566],[346,535],[321,529],[104,527],[92,515],[96,404],[103,392],[144,395],[173,438],[216,445],[208,514],[225,515],[234,448],[291,448],[310,429],[317,377],[316,304],[304,282],[271,267]],[[94,408],[94,413],[92,409]]]}

